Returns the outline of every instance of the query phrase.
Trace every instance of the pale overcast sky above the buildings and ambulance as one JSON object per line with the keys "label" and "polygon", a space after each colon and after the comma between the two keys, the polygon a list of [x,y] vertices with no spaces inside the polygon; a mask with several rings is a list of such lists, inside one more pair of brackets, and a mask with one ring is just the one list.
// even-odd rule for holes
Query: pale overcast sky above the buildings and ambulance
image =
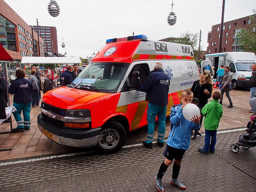
{"label": "pale overcast sky above the buildings and ambulance", "polygon": [[[222,0],[173,0],[177,22],[170,26],[172,0],[56,0],[60,15],[52,17],[50,0],[4,0],[28,25],[57,28],[59,53],[86,58],[107,39],[144,34],[151,40],[180,37],[202,30],[203,50],[212,25],[221,22]],[[226,0],[224,22],[252,15],[256,0]],[[61,47],[62,37],[65,48]]]}

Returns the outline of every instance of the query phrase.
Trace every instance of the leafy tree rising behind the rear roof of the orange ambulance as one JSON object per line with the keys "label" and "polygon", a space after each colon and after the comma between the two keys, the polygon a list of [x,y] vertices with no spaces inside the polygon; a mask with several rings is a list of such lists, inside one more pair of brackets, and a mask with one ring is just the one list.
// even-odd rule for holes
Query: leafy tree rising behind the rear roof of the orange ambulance
{"label": "leafy tree rising behind the rear roof of the orange ambulance", "polygon": [[[197,48],[198,33],[192,34],[187,31],[187,32],[182,33],[179,39],[172,37],[172,38],[169,38],[168,41],[172,42],[172,43],[191,45],[193,52],[194,52],[194,58],[195,59],[198,58],[198,56],[199,56],[199,51]],[[200,50],[202,50],[202,49],[200,48]]]}

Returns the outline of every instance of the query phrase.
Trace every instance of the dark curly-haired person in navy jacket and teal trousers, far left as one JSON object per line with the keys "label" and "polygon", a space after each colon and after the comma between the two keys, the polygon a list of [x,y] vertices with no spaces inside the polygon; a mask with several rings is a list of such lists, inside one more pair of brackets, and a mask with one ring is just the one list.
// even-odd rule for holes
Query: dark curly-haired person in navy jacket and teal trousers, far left
{"label": "dark curly-haired person in navy jacket and teal trousers, far left", "polygon": [[[32,102],[32,90],[33,85],[31,81],[25,79],[26,73],[22,69],[15,71],[17,79],[15,79],[9,89],[10,94],[13,96],[13,106],[17,111],[13,112],[15,121],[17,122],[17,128],[12,131],[24,131],[30,129],[30,106]],[[24,121],[20,116],[21,111],[23,113]]]}

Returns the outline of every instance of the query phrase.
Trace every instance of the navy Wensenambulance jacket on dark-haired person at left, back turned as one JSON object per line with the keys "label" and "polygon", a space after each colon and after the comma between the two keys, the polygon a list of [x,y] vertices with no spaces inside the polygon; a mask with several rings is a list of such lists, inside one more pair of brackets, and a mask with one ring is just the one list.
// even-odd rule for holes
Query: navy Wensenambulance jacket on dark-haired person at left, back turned
{"label": "navy Wensenambulance jacket on dark-haired person at left, back turned", "polygon": [[24,77],[15,79],[9,89],[10,94],[14,94],[13,103],[32,102],[31,92],[33,90],[32,82]]}

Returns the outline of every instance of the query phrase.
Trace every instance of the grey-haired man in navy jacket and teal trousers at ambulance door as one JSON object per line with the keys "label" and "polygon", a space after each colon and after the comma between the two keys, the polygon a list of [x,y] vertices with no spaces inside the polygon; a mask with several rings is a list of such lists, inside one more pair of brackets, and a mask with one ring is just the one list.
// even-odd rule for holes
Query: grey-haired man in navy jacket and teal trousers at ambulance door
{"label": "grey-haired man in navy jacket and teal trousers at ambulance door", "polygon": [[148,101],[148,135],[147,140],[143,141],[143,145],[148,148],[153,148],[153,136],[156,115],[158,118],[158,138],[157,144],[160,147],[164,146],[164,134],[165,134],[165,118],[168,104],[170,79],[167,74],[164,73],[164,66],[162,63],[156,63],[154,70],[148,76],[147,80],[138,91],[146,92],[146,101]]}

